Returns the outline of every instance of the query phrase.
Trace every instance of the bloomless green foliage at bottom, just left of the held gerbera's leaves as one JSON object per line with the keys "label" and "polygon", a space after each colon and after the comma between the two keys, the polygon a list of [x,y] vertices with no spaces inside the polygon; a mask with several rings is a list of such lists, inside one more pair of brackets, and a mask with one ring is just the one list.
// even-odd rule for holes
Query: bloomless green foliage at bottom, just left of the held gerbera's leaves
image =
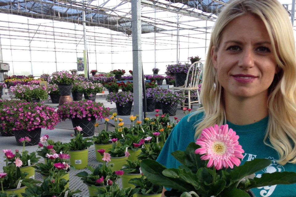
{"label": "bloomless green foliage at bottom, just left of the held gerbera's leaves", "polygon": [[136,197],[160,197],[162,193],[162,186],[151,183],[143,175],[140,178],[133,178],[129,181],[135,188],[140,189]]}

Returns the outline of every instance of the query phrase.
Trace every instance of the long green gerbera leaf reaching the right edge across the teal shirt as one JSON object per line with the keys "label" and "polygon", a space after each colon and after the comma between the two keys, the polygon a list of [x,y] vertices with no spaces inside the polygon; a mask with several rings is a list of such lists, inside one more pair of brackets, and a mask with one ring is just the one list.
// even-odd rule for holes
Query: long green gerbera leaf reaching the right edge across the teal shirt
{"label": "long green gerbera leaf reaching the right edge across the teal shirt", "polygon": [[261,178],[250,179],[251,184],[245,190],[254,187],[264,187],[268,185],[293,184],[296,183],[296,172],[273,172],[264,173]]}

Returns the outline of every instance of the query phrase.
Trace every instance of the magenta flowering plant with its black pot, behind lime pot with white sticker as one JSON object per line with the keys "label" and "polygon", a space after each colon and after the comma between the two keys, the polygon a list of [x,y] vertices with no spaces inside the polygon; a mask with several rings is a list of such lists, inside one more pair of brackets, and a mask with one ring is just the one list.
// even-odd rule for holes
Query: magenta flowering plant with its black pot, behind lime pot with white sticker
{"label": "magenta flowering plant with its black pot, behind lime pot with white sticker", "polygon": [[64,103],[58,107],[57,113],[62,121],[71,119],[73,127],[80,126],[83,136],[88,137],[94,135],[96,120],[105,119],[110,111],[103,103],[81,100]]}

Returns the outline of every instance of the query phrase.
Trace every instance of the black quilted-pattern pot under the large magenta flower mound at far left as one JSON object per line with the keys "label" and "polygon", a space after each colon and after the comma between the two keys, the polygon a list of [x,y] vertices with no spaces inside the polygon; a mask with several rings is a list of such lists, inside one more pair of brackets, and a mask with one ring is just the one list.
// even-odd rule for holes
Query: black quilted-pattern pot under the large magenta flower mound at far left
{"label": "black quilted-pattern pot under the large magenta flower mound at far left", "polygon": [[31,139],[30,142],[26,142],[25,146],[34,146],[37,145],[40,142],[40,136],[41,136],[41,128],[36,128],[32,131],[27,130],[14,130],[13,131],[16,143],[18,146],[23,146],[23,143],[19,142],[19,139],[24,137],[29,137]]}

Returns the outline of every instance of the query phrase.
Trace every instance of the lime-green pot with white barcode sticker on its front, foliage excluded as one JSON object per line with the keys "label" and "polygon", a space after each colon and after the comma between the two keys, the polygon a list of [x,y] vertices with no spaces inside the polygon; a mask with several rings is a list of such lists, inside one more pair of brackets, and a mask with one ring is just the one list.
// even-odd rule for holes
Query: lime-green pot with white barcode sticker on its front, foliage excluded
{"label": "lime-green pot with white barcode sticker on its front, foliage excluded", "polygon": [[83,169],[88,164],[88,149],[81,151],[69,151],[70,164],[75,167],[75,169]]}

